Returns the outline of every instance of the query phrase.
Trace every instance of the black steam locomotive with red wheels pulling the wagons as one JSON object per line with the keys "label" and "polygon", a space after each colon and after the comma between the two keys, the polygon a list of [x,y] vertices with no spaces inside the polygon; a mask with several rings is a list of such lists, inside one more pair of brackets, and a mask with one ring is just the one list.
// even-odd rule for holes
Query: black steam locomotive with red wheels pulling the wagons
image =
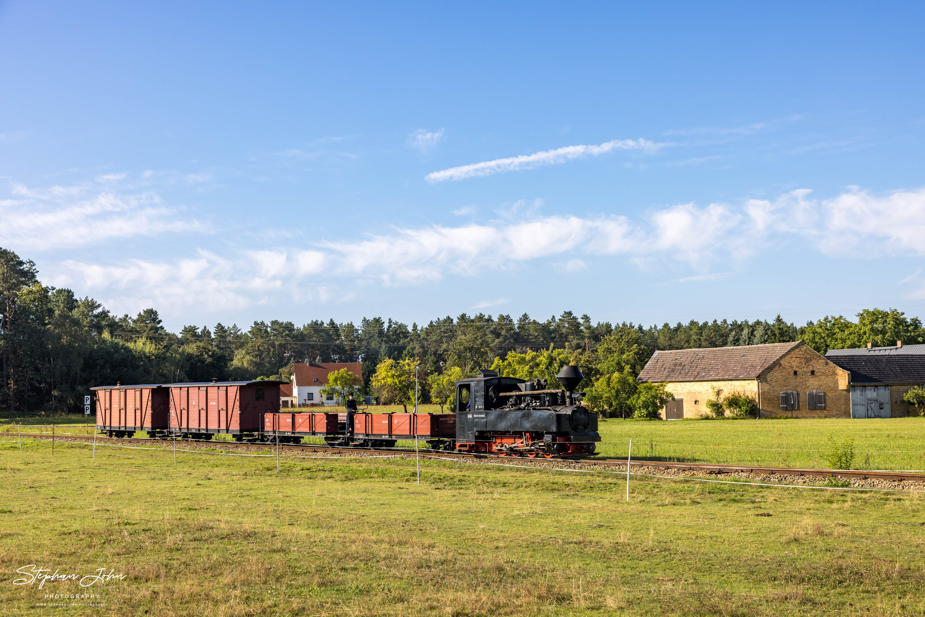
{"label": "black steam locomotive with red wheels pulling the wagons", "polygon": [[546,379],[479,373],[456,382],[456,450],[548,459],[595,453],[598,414],[574,392],[583,378],[577,366],[556,376],[561,389],[548,389]]}

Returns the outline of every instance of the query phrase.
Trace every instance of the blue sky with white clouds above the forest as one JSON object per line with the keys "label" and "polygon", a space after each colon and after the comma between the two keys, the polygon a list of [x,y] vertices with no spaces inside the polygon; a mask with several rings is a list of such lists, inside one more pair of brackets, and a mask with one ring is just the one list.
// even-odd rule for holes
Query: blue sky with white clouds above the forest
{"label": "blue sky with white clouds above the forest", "polygon": [[0,3],[0,246],[166,326],[925,306],[921,3]]}

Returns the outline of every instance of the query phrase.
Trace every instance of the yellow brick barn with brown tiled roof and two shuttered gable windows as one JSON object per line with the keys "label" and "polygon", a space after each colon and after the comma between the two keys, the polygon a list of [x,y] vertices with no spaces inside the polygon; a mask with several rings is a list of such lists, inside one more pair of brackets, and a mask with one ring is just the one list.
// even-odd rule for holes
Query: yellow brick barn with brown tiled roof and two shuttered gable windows
{"label": "yellow brick barn with brown tiled roof and two shuttered gable windows", "polygon": [[661,412],[665,420],[708,413],[706,403],[717,388],[723,395],[751,396],[765,417],[851,414],[848,372],[803,341],[655,352],[638,379],[667,382],[674,401]]}

